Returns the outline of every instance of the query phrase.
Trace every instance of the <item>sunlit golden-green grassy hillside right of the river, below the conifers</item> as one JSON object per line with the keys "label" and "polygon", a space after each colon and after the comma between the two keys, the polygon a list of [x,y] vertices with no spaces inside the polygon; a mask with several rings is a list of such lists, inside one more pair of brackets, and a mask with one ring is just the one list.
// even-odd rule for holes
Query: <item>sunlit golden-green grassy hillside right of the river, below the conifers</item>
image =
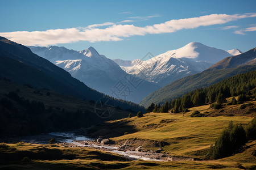
{"label": "sunlit golden-green grassy hillside right of the river, below the conifers", "polygon": [[[112,136],[120,145],[126,142],[131,146],[142,146],[144,151],[162,147],[166,154],[204,159],[210,145],[230,121],[245,126],[256,116],[255,109],[250,109],[255,108],[256,101],[246,104],[250,107],[242,109],[241,104],[237,104],[213,109],[203,105],[191,108],[187,113],[147,113],[141,118],[106,122],[93,128],[91,135]],[[203,113],[203,117],[191,117],[193,111]],[[119,135],[123,131],[128,134]]]}

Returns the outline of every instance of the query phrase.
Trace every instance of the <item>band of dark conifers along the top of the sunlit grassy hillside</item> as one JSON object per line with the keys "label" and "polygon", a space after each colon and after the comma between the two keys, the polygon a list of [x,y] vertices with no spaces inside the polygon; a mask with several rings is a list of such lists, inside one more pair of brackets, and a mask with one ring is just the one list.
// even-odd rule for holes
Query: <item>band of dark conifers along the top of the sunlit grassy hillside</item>
{"label": "band of dark conifers along the top of the sunlit grassy hillside", "polygon": [[[189,108],[197,107],[207,103],[214,103],[211,107],[220,108],[222,103],[226,102],[226,97],[238,96],[238,101],[232,99],[232,103],[242,103],[248,101],[248,95],[256,96],[256,91],[251,94],[256,85],[256,71],[238,74],[228,79],[222,80],[209,87],[197,88],[194,91],[185,94],[177,99],[166,101],[164,104],[152,103],[147,112],[168,112],[171,109],[172,113],[188,112]],[[215,103],[216,102],[216,103]]]}

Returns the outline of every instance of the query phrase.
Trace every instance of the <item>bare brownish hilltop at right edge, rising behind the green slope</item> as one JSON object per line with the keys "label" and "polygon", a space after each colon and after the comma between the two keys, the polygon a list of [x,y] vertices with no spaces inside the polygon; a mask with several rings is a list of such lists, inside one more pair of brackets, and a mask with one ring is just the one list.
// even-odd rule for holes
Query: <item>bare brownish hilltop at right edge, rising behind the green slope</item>
{"label": "bare brownish hilltop at right edge, rising behind the green slope", "polygon": [[256,63],[256,48],[253,48],[245,53],[238,54],[237,56],[227,57],[209,67],[209,70],[228,69],[241,65],[252,65]]}

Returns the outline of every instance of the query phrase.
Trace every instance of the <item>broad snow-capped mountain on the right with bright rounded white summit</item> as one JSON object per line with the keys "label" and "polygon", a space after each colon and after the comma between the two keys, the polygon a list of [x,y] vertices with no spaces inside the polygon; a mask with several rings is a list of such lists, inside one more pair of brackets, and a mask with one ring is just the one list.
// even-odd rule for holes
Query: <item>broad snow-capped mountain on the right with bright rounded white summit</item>
{"label": "broad snow-capped mountain on the right with bright rounded white summit", "polygon": [[141,78],[146,77],[146,80],[163,87],[176,79],[200,73],[229,56],[230,53],[225,50],[212,48],[200,42],[191,42],[182,48],[170,50],[146,61],[131,61],[129,65],[116,62],[127,73]]}

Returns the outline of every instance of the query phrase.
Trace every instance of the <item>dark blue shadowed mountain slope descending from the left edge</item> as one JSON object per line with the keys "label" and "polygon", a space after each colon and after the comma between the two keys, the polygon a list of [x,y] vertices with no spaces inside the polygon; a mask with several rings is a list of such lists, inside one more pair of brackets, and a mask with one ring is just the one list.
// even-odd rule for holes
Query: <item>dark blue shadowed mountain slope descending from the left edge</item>
{"label": "dark blue shadowed mountain slope descending from the left edge", "polygon": [[47,88],[60,94],[79,97],[88,101],[96,101],[101,97],[107,97],[123,109],[143,110],[135,103],[115,100],[89,88],[73,78],[67,71],[32,53],[26,46],[7,40],[4,37],[0,37],[0,76],[19,84]]}

